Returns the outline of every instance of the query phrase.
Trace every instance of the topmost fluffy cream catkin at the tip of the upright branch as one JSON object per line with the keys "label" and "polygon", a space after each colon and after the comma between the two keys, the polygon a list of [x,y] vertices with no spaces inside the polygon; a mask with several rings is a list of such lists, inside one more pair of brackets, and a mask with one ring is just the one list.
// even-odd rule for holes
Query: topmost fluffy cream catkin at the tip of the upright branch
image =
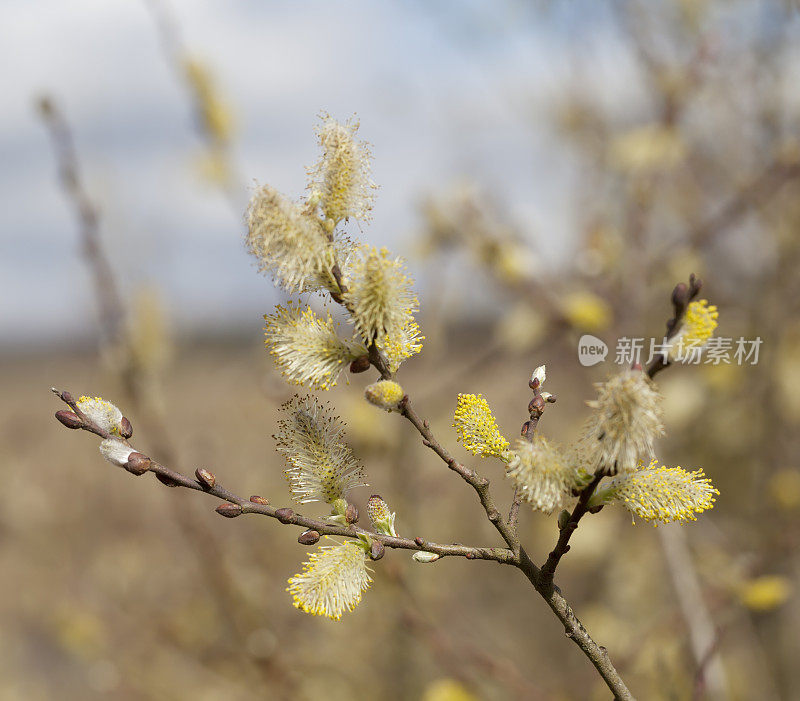
{"label": "topmost fluffy cream catkin at the tip of the upright branch", "polygon": [[350,217],[366,221],[372,210],[377,186],[370,180],[369,146],[355,138],[358,127],[355,119],[340,124],[323,114],[317,129],[322,155],[308,171],[309,189],[334,225]]}

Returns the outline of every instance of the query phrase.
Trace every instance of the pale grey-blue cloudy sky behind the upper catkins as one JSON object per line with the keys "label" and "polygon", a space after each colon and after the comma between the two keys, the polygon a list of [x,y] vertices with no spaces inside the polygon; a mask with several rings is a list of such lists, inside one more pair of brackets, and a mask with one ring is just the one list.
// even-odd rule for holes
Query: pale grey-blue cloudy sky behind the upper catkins
{"label": "pale grey-blue cloudy sky behind the upper catkins", "polygon": [[[575,78],[575,47],[607,100],[630,92],[631,80],[599,3],[547,5],[171,0],[168,8],[235,110],[248,183],[303,194],[316,114],[357,113],[381,185],[364,232],[372,241],[410,253],[420,198],[466,176],[501,193],[557,260],[571,228],[569,154],[546,123]],[[271,283],[243,251],[241,212],[196,172],[190,101],[144,0],[4,0],[0,80],[0,347],[94,333],[76,222],[33,108],[42,93],[72,124],[125,289],[156,284],[183,328],[260,324]],[[245,203],[243,193],[241,210]]]}

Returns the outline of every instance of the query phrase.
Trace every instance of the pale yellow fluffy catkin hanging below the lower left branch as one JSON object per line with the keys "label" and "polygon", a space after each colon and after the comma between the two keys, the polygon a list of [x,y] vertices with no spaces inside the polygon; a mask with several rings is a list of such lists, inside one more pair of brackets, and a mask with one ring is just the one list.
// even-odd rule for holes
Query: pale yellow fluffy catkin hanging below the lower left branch
{"label": "pale yellow fluffy catkin hanging below the lower left branch", "polygon": [[338,621],[372,583],[366,558],[360,542],[321,545],[303,563],[303,571],[289,579],[286,591],[301,611]]}

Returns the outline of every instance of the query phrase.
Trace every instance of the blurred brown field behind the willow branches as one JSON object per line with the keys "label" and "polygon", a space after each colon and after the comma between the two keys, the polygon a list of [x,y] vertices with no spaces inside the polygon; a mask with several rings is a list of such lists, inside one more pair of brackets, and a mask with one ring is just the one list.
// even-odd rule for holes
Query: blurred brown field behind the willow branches
{"label": "blurred brown field behind the willow branches", "polygon": [[[461,342],[446,351],[446,373],[423,354],[408,363],[403,380],[449,444],[459,390],[483,392],[513,435],[529,395],[527,368],[540,360],[560,397],[542,430],[563,439],[577,431],[582,398],[590,396],[587,380],[602,378],[602,371],[576,373],[566,348],[535,358],[497,353],[476,365],[486,330],[459,335]],[[277,406],[292,390],[265,355],[257,342],[181,348],[164,403],[184,471],[204,466],[239,493],[288,505],[270,434]],[[93,354],[7,358],[0,367],[13,398],[2,417],[8,496],[0,512],[7,573],[0,697],[606,697],[524,578],[492,563],[447,558],[421,566],[391,551],[375,563],[375,583],[354,613],[338,623],[301,614],[284,591],[307,550],[295,542],[294,528],[257,516],[221,519],[214,501],[114,468],[100,459],[95,441],[56,424],[50,384],[92,388],[112,400],[119,393]],[[711,376],[704,367],[663,376],[668,416],[696,383],[703,387],[702,411],[726,417],[715,432],[673,440],[665,451],[662,459],[702,464],[722,491],[698,523],[670,528],[690,539],[719,626],[731,698],[760,697],[765,689],[780,698],[779,685],[795,683],[796,597],[784,601],[780,592],[766,591],[759,601],[751,591],[748,606],[743,592],[753,577],[768,573],[792,582],[794,593],[800,495],[775,504],[766,485],[752,484],[746,463],[726,456],[746,449],[748,440],[731,445],[737,408],[714,390]],[[362,512],[366,497],[378,491],[398,511],[402,535],[494,543],[492,529],[476,517],[471,491],[409,426],[360,400],[362,384],[358,376],[328,393],[366,463],[371,486],[355,495]],[[139,417],[130,419],[133,444],[149,449]],[[674,424],[668,419],[671,433]],[[505,508],[510,496],[501,470],[488,461],[479,467]],[[769,502],[763,508],[756,501],[762,498]],[[556,536],[552,518],[523,513],[521,529],[543,559]],[[581,526],[559,571],[577,614],[614,651],[641,698],[692,693],[686,624],[670,582],[656,530],[631,526],[627,514],[612,508]]]}

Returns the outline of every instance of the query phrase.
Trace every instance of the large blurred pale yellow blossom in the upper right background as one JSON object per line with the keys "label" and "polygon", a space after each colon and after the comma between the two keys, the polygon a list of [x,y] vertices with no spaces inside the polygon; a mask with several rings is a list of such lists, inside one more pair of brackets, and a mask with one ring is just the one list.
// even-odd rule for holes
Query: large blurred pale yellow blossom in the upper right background
{"label": "large blurred pale yellow blossom in the upper right background", "polygon": [[619,170],[642,173],[668,170],[686,156],[686,144],[675,130],[656,124],[632,129],[611,141],[611,163]]}

